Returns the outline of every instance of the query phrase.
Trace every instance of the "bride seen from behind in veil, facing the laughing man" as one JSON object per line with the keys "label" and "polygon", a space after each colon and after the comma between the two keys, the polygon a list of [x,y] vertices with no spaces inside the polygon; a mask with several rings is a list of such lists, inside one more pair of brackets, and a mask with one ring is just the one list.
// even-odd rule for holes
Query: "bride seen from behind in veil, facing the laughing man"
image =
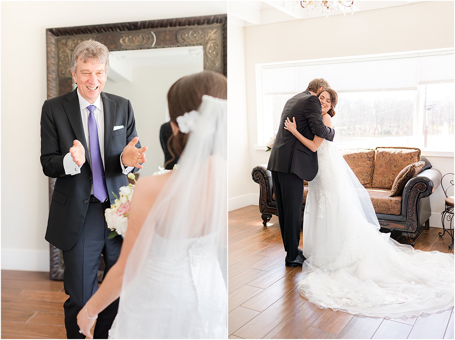
{"label": "bride seen from behind in veil, facing the laughing man", "polygon": [[112,339],[227,337],[226,99],[211,71],[169,89],[179,168],[138,181],[120,257],[77,315],[88,338],[119,296]]}

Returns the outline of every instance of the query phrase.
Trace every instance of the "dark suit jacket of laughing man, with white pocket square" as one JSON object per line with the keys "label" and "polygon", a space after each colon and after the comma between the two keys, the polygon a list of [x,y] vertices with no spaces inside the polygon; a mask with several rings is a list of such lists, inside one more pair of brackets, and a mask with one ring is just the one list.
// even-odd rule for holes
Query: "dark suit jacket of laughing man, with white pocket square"
{"label": "dark suit jacket of laughing man, with white pocket square", "polygon": [[[46,100],[41,110],[41,165],[48,177],[56,178],[45,239],[63,251],[74,246],[81,232],[92,186],[89,153],[82,126],[77,89]],[[118,193],[127,185],[122,173],[120,155],[126,144],[136,137],[136,123],[128,99],[101,92],[104,112],[104,169],[107,192],[111,203],[112,192]],[[113,131],[114,126],[124,127]],[[86,162],[81,173],[66,175],[63,158],[79,140],[85,148]],[[140,148],[137,143],[136,147]],[[75,164],[76,165],[76,164]],[[134,170],[137,171],[135,168]]]}

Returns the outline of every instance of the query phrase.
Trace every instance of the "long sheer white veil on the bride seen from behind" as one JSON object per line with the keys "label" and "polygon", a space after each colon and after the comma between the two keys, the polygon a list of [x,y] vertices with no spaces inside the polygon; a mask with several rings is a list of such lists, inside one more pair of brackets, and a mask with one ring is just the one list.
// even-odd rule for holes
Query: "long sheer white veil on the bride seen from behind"
{"label": "long sheer white veil on the bride seen from behind", "polygon": [[[187,320],[192,326],[181,329],[184,337],[227,337],[227,100],[204,95],[197,111],[199,117],[179,158],[179,168],[158,195],[126,261],[117,315],[120,320],[116,322],[121,323],[122,318],[139,309],[150,315],[137,315],[142,318],[142,323],[135,324],[137,328],[161,328],[153,330],[152,335],[138,331],[133,336],[176,337],[180,334],[176,328],[187,327],[182,321]],[[150,258],[163,261],[152,264],[158,267],[157,272],[153,269],[147,274],[151,289],[162,287],[162,292],[146,289],[141,293],[138,287],[147,286],[149,281],[137,281],[143,280]],[[162,278],[157,279],[159,275]],[[185,281],[185,275],[191,280]],[[153,286],[154,280],[163,282]],[[176,282],[178,288],[172,289]],[[182,308],[167,306],[167,295],[174,302],[172,299],[182,296]],[[194,306],[185,306],[193,304],[185,300],[189,295],[196,296]],[[134,306],[137,303],[163,306],[153,306],[155,309],[150,311],[147,306]],[[169,308],[175,309],[170,312],[172,320],[167,315]],[[192,313],[184,311],[188,308]],[[208,324],[208,330],[192,329],[201,320]],[[116,337],[121,335],[117,329]]]}

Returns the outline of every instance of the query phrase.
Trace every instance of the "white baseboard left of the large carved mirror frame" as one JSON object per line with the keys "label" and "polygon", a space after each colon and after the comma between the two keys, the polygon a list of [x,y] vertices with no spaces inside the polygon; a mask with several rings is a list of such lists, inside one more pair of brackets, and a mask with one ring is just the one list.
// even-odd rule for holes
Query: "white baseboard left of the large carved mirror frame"
{"label": "white baseboard left of the large carved mirror frame", "polygon": [[49,250],[2,249],[1,269],[11,271],[49,271]]}

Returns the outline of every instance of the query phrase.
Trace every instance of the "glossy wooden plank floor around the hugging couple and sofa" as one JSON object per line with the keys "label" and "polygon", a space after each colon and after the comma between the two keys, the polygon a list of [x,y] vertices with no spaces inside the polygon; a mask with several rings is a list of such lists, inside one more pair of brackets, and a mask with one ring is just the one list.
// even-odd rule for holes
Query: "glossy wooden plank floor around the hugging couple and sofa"
{"label": "glossy wooden plank floor around the hugging couple and sofa", "polygon": [[[448,252],[440,228],[418,237],[415,248]],[[278,218],[263,227],[258,206],[229,212],[229,339],[453,339],[454,311],[401,319],[374,319],[321,310],[299,295],[301,267],[286,267]],[[451,251],[452,252],[452,251]]]}

